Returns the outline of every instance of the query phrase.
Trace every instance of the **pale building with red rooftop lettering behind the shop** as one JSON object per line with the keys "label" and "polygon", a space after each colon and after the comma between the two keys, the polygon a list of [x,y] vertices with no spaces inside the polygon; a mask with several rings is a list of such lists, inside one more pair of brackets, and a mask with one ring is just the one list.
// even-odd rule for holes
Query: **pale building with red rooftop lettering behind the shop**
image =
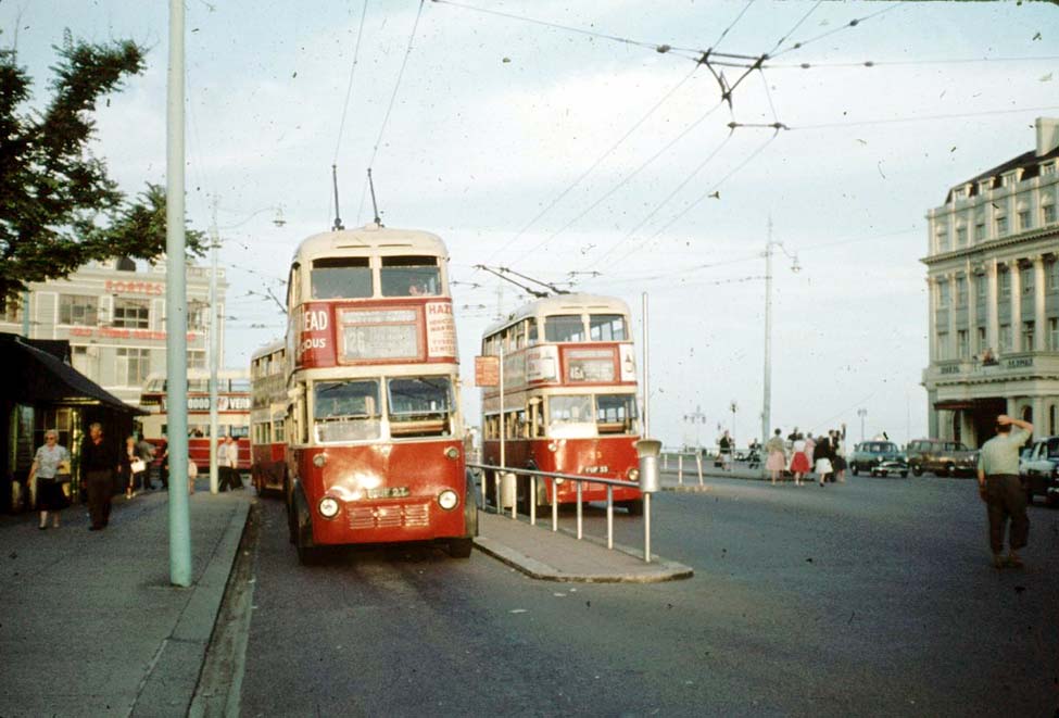
{"label": "pale building with red rooftop lettering behind the shop", "polygon": [[[188,368],[206,368],[210,268],[187,267]],[[63,280],[29,285],[9,301],[0,331],[70,341],[74,368],[122,401],[139,406],[151,374],[165,375],[165,263],[137,268],[131,260],[92,262]],[[224,356],[224,270],[217,274],[217,331]]]}

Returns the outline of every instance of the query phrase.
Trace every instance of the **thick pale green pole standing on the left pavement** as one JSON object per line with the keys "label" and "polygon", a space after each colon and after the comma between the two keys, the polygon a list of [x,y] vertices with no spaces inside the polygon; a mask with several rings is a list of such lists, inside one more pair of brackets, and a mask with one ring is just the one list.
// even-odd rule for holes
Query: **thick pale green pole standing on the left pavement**
{"label": "thick pale green pole standing on the left pavement", "polygon": [[184,1],[169,0],[166,98],[165,374],[169,442],[169,582],[191,585],[188,490],[188,297],[184,236]]}

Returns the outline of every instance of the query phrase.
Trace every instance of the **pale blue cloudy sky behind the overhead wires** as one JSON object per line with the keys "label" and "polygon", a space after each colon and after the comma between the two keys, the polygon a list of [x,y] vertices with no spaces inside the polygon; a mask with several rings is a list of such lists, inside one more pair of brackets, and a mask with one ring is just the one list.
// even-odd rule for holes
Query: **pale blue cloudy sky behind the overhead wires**
{"label": "pale blue cloudy sky behind the overhead wires", "polygon": [[[17,45],[38,100],[64,27],[150,48],[147,72],[99,110],[96,151],[129,192],[164,180],[165,4],[0,3],[0,41]],[[206,228],[210,197],[219,197],[227,313],[238,317],[226,337],[228,365],[245,364],[282,332],[275,304],[248,292],[280,291],[298,242],[330,226],[332,162],[346,226],[370,218],[362,199],[370,163],[383,221],[449,244],[462,282],[454,297],[471,420],[481,331],[499,305],[510,311],[525,299],[474,268],[484,263],[556,282],[580,273],[578,289],[622,297],[638,324],[646,292],[653,432],[667,443],[694,442],[696,432],[713,443],[717,425],[731,424],[734,400],[737,440],[758,437],[771,217],[773,239],[802,268],[791,272],[777,254],[773,426],[845,421],[859,439],[865,408],[868,433],[925,433],[923,216],[951,185],[1031,149],[1034,117],[1059,115],[1052,5],[364,8],[186,3],[188,214]],[[855,18],[863,20],[850,27]],[[729,109],[688,53],[575,29],[753,56],[789,39],[735,89]],[[723,72],[729,83],[741,73]],[[731,122],[790,129],[730,131]],[[270,223],[276,206],[282,228]],[[707,417],[697,427],[684,419],[696,407]]]}

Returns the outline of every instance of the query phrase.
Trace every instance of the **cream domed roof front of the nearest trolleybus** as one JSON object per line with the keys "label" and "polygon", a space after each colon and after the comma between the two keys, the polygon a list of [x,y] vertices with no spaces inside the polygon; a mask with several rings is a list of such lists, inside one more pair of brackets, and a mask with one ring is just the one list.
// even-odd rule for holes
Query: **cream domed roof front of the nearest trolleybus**
{"label": "cream domed roof front of the nearest trolleybus", "polygon": [[423,254],[449,259],[445,243],[429,231],[390,229],[370,224],[358,229],[340,229],[313,235],[302,240],[292,263],[303,264],[317,256],[394,256]]}

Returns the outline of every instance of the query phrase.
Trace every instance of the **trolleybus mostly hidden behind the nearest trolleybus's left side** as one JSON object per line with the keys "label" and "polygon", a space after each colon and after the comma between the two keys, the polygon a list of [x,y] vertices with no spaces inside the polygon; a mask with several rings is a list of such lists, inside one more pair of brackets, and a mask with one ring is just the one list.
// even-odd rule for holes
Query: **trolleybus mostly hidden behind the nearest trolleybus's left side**
{"label": "trolleybus mostly hidden behind the nearest trolleybus's left side", "polygon": [[280,493],[287,477],[287,344],[250,357],[250,481],[260,495]]}

